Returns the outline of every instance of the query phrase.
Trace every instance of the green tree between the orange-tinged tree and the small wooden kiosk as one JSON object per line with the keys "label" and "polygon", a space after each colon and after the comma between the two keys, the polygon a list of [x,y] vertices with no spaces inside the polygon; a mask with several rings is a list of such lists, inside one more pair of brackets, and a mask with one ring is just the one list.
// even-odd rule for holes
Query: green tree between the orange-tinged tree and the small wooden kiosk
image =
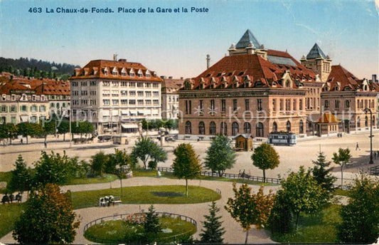
{"label": "green tree between the orange-tinged tree and the small wooden kiosk", "polygon": [[206,151],[205,167],[212,172],[218,172],[218,176],[223,177],[225,170],[229,170],[235,164],[235,152],[232,142],[225,135],[217,135]]}

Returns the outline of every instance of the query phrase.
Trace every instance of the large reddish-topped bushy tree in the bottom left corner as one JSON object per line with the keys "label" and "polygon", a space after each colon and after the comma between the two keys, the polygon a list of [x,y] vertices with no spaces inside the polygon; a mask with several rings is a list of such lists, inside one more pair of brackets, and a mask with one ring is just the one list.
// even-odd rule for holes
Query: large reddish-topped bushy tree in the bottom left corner
{"label": "large reddish-topped bushy tree in the bottom left corner", "polygon": [[75,221],[70,192],[56,184],[31,192],[26,208],[14,224],[13,237],[20,244],[70,244],[80,222]]}

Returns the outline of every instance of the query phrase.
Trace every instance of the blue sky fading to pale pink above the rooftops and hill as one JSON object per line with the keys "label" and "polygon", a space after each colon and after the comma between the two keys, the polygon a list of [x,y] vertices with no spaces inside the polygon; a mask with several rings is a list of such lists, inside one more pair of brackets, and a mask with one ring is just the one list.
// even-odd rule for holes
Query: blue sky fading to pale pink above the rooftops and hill
{"label": "blue sky fading to pale pink above the rooftops and hill", "polygon": [[[106,8],[113,13],[96,13]],[[119,8],[137,13],[119,13]],[[148,8],[154,13],[138,11]],[[158,13],[157,8],[172,12]],[[60,9],[79,13],[57,13]],[[80,13],[85,9],[88,13]],[[341,64],[358,78],[379,73],[374,1],[0,0],[0,11],[0,56],[5,58],[85,66],[117,53],[158,75],[190,78],[205,70],[207,54],[210,64],[216,63],[250,29],[265,48],[287,50],[297,60],[318,43],[333,65]]]}

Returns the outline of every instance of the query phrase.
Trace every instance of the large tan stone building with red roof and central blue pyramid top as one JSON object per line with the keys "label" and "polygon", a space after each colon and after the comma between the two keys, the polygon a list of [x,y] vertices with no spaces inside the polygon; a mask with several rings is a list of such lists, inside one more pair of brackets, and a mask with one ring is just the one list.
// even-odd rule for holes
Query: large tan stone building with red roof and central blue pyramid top
{"label": "large tan stone building with red roof and central blue pyramid top", "polygon": [[250,30],[228,51],[229,56],[187,79],[179,90],[179,137],[267,137],[272,131],[304,135],[304,83],[319,82],[314,71],[287,52],[266,49]]}

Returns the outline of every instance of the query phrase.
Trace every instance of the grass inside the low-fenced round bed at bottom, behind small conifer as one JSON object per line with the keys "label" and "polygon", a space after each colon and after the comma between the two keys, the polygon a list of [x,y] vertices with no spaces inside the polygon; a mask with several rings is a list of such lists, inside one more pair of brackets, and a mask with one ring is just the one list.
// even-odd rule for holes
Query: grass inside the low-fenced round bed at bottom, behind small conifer
{"label": "grass inside the low-fenced round bed at bottom, behind small conifer", "polygon": [[[173,241],[173,237],[178,234],[186,233],[192,235],[196,232],[196,226],[181,219],[159,217],[159,224],[161,224],[161,229],[166,230],[166,233],[159,232],[157,234],[157,241]],[[167,233],[168,231],[169,233]],[[102,243],[133,242],[141,234],[143,234],[143,226],[141,224],[133,225],[124,220],[114,220],[91,226],[85,231],[85,238]]]}

